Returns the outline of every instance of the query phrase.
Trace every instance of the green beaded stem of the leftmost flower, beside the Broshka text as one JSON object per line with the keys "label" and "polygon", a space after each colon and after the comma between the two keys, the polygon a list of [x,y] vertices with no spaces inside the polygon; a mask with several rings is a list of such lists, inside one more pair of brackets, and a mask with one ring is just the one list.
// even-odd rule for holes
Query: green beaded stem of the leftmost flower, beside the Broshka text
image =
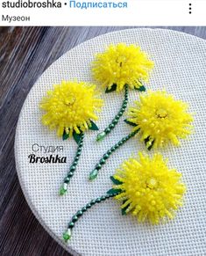
{"label": "green beaded stem of the leftmost flower, beside the Broshka text", "polygon": [[81,139],[78,143],[78,147],[76,150],[75,159],[73,161],[73,164],[70,166],[69,172],[67,172],[67,177],[65,177],[64,182],[63,182],[62,186],[60,187],[60,195],[66,194],[68,183],[70,182],[70,179],[75,174],[75,169],[76,169],[76,166],[78,165],[79,158],[82,153],[83,138],[84,138],[84,134],[81,135]]}

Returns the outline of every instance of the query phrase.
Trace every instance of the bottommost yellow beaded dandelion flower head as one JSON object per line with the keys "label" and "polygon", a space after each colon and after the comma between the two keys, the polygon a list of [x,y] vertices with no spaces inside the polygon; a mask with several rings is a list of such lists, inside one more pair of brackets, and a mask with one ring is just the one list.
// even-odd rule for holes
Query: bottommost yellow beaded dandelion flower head
{"label": "bottommost yellow beaded dandelion flower head", "polygon": [[186,189],[181,173],[169,170],[160,154],[150,158],[139,153],[139,159],[126,160],[113,178],[118,182],[114,189],[122,191],[115,198],[124,201],[121,208],[137,216],[139,222],[148,219],[157,224],[161,218],[173,218]]}

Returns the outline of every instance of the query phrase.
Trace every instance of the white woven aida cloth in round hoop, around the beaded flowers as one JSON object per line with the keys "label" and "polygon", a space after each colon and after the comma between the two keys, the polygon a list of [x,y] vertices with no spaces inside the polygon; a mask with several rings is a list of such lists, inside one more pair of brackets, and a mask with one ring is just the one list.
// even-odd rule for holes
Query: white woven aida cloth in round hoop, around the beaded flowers
{"label": "white woven aida cloth in round hoop, around the beaded flowers", "polygon": [[[89,209],[76,223],[73,237],[66,245],[62,232],[79,208],[91,199],[105,194],[111,187],[110,175],[132,154],[146,150],[138,139],[132,138],[117,150],[103,165],[94,182],[88,181],[89,172],[105,150],[131,131],[124,117],[115,130],[102,142],[96,143],[98,132],[85,135],[82,156],[71,179],[66,195],[58,195],[60,184],[75,156],[74,140],[62,141],[54,131],[43,127],[39,101],[53,84],[77,78],[92,82],[90,62],[97,52],[110,44],[137,43],[155,63],[147,89],[173,93],[176,99],[188,102],[195,113],[195,133],[181,140],[181,147],[168,147],[161,153],[168,157],[168,165],[182,173],[187,184],[184,206],[173,221],[153,226],[138,223],[133,216],[122,216],[119,203],[113,199]],[[94,81],[93,81],[94,82]],[[160,29],[131,29],[107,33],[88,40],[68,51],[54,62],[32,87],[22,108],[16,133],[15,155],[18,178],[34,215],[50,235],[68,252],[82,255],[205,255],[205,113],[206,113],[206,41],[185,33]],[[102,90],[102,88],[101,88]],[[129,102],[144,92],[130,91]],[[97,122],[100,130],[111,121],[121,106],[123,93],[103,92],[105,105]],[[67,164],[30,164],[32,144],[61,146],[60,156]],[[51,153],[37,152],[46,157]],[[153,150],[149,154],[153,154]],[[54,154],[55,155],[55,154]]]}

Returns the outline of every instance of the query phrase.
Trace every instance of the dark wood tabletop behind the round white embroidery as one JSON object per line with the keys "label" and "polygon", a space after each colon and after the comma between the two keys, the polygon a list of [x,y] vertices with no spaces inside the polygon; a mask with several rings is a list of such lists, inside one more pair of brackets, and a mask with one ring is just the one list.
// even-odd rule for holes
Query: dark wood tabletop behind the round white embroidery
{"label": "dark wood tabletop behind the round white embroidery", "polygon": [[[14,135],[32,85],[70,48],[128,27],[0,27],[0,256],[69,255],[38,223],[18,183]],[[206,27],[163,27],[206,39]]]}

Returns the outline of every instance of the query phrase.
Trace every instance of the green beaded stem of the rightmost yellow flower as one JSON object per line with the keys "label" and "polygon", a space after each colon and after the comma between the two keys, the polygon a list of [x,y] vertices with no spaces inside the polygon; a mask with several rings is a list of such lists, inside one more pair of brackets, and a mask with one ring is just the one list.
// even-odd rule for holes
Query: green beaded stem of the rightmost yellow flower
{"label": "green beaded stem of the rightmost yellow flower", "polygon": [[110,157],[110,155],[117,150],[120,146],[122,146],[125,142],[127,142],[131,137],[136,135],[139,132],[139,129],[131,132],[131,134],[125,136],[122,138],[118,143],[116,143],[114,146],[110,148],[110,150],[107,150],[107,152],[103,155],[103,157],[99,160],[98,164],[96,164],[95,169],[89,173],[89,180],[96,179],[98,172],[102,169],[102,166],[106,163],[107,159]]}

